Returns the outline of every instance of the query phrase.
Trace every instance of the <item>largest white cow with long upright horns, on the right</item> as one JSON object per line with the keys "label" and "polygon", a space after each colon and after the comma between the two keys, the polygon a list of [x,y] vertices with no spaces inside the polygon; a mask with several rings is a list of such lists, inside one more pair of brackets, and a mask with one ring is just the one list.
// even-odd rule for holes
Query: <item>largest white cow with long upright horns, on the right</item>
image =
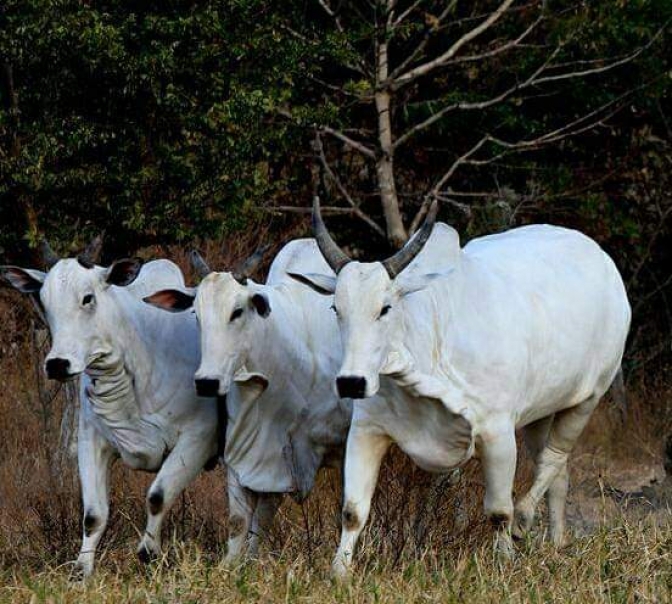
{"label": "largest white cow with long upright horns, on the right", "polygon": [[[594,241],[535,225],[460,249],[450,229],[445,270],[404,271],[435,216],[436,205],[391,259],[360,263],[330,238],[316,201],[315,236],[337,277],[294,275],[319,292],[335,292],[344,346],[336,380],[341,395],[382,395],[354,404],[337,575],[351,563],[392,442],[435,472],[478,456],[485,512],[504,551],[511,528],[515,536],[529,529],[548,492],[551,536],[562,544],[567,458],[620,368],[630,306],[618,270]],[[521,427],[536,474],[514,517],[515,430]]]}

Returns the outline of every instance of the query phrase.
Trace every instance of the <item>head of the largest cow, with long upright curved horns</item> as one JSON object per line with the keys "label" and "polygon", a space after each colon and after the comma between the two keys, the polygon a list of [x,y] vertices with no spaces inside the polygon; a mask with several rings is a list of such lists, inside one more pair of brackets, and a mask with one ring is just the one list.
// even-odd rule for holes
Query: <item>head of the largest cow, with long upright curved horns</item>
{"label": "head of the largest cow, with long upright curved horns", "polygon": [[376,394],[395,325],[403,317],[398,305],[404,296],[423,289],[436,276],[398,275],[423,248],[432,232],[437,207],[434,203],[421,229],[406,246],[383,262],[356,262],[336,245],[322,221],[319,201],[313,205],[313,230],[325,260],[336,277],[317,274],[290,275],[315,291],[334,294],[334,312],[343,340],[343,364],[336,377],[343,398],[367,398]]}

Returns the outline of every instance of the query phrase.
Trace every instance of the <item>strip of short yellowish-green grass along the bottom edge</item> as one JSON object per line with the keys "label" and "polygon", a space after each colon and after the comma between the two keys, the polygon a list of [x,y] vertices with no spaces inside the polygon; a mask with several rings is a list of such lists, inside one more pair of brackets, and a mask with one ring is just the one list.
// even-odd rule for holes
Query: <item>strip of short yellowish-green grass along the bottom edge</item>
{"label": "strip of short yellowish-green grass along the bottom edge", "polygon": [[83,584],[67,567],[0,575],[2,602],[669,602],[672,527],[624,518],[563,551],[531,540],[512,561],[487,544],[446,556],[435,549],[390,565],[364,551],[356,574],[329,578],[329,549],[309,561],[290,543],[279,554],[227,569],[195,545],[173,543],[149,569],[125,558],[104,558]]}

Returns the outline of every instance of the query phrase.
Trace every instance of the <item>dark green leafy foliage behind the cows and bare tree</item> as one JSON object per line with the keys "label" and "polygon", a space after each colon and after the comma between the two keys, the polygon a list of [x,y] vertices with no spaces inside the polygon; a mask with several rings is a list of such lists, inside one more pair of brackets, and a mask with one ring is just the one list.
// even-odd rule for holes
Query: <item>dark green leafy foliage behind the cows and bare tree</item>
{"label": "dark green leafy foliage behind the cows and bare tree", "polygon": [[[30,254],[40,233],[61,251],[103,229],[108,253],[189,243],[267,221],[269,207],[305,207],[320,129],[351,201],[384,226],[375,158],[324,128],[379,157],[377,44],[388,46],[391,74],[402,74],[446,52],[501,2],[399,0],[395,14],[405,17],[394,31],[381,26],[385,4],[7,0],[5,255]],[[635,349],[650,351],[640,355],[643,365],[670,342],[670,18],[667,0],[514,2],[455,61],[395,87],[391,100],[393,139],[409,133],[395,149],[407,226],[441,175],[489,135],[471,156],[477,161],[459,165],[440,188],[443,219],[465,237],[538,221],[596,237],[631,288],[640,313]],[[521,44],[493,52],[529,27]],[[550,79],[522,86],[554,49]],[[633,53],[604,73],[552,77]],[[501,102],[449,111],[411,132],[446,106],[486,102],[516,86]],[[583,116],[592,119],[578,122],[586,127],[574,136],[520,146]],[[325,202],[347,208],[334,178],[325,184]],[[355,248],[387,251],[356,215],[330,220]]]}

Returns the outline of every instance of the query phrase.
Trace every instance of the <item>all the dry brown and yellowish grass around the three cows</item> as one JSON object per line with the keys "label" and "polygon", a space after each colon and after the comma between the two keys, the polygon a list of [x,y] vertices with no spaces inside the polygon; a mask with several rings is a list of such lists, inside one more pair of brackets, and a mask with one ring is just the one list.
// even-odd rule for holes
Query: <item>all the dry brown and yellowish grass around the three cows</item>
{"label": "all the dry brown and yellowish grass around the three cows", "polygon": [[[257,232],[255,239],[268,234]],[[221,270],[256,243],[251,238],[226,246],[209,242],[203,251],[212,268]],[[194,282],[186,250],[144,255],[174,259]],[[646,513],[622,516],[603,502],[611,511],[566,552],[531,540],[515,561],[500,564],[481,514],[478,463],[436,477],[399,451],[382,468],[358,557],[360,574],[352,584],[336,586],[326,578],[340,528],[336,471],[323,472],[302,505],[287,499],[260,563],[234,570],[219,562],[227,532],[223,471],[204,473],[166,522],[163,561],[144,569],[134,551],[144,529],[151,476],[117,464],[100,572],[86,586],[73,588],[67,583],[68,562],[79,548],[82,513],[75,464],[61,446],[63,391],[41,377],[48,336],[30,303],[0,290],[0,317],[0,582],[5,585],[0,601],[663,602],[670,594],[672,529],[660,515],[655,522]],[[586,485],[601,488],[614,468],[659,463],[662,434],[672,427],[670,394],[663,383],[638,386],[630,392],[624,425],[613,405],[603,403],[572,465],[575,493]],[[517,492],[530,478],[522,454]]]}

